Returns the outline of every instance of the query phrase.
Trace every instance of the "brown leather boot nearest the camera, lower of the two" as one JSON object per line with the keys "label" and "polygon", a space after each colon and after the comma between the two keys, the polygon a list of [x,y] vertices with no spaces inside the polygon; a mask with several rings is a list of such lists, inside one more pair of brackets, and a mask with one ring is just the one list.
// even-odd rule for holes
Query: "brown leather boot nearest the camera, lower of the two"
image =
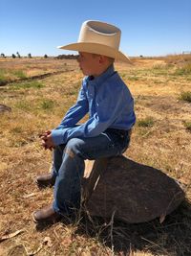
{"label": "brown leather boot nearest the camera, lower of the two", "polygon": [[32,213],[32,220],[35,223],[42,223],[46,221],[55,222],[55,221],[59,221],[60,218],[61,216],[53,210],[52,205],[46,206]]}

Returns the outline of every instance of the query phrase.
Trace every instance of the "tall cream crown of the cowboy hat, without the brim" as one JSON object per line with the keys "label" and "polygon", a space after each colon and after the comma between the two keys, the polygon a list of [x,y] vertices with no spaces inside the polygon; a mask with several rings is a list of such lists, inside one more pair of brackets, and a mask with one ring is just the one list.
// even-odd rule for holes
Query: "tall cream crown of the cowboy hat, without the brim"
{"label": "tall cream crown of the cowboy hat, without the brim", "polygon": [[97,43],[118,50],[120,35],[120,30],[114,25],[88,20],[81,26],[78,42]]}

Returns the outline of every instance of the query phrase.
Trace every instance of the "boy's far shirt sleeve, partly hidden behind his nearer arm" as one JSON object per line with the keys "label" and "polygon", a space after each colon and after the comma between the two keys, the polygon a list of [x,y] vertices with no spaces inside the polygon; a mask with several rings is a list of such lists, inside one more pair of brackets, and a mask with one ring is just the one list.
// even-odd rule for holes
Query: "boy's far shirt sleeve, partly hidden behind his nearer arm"
{"label": "boy's far shirt sleeve, partly hidden behind his nearer arm", "polygon": [[78,94],[76,104],[73,105],[66,113],[60,125],[55,129],[73,128],[74,125],[82,119],[89,110],[89,104],[84,91],[83,85]]}

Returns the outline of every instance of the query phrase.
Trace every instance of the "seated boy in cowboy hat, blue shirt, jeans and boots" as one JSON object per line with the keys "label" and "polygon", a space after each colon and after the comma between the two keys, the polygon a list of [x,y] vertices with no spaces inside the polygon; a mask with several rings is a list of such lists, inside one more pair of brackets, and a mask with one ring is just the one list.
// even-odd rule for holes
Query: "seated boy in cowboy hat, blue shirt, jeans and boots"
{"label": "seated boy in cowboy hat, blue shirt, jeans and boots", "polygon": [[[86,21],[77,43],[59,47],[79,52],[77,60],[86,77],[61,124],[42,135],[44,148],[53,150],[53,172],[36,181],[39,186],[54,185],[53,204],[34,212],[35,222],[51,221],[79,208],[85,159],[119,155],[128,148],[136,117],[131,93],[114,70],[115,59],[129,61],[118,51],[119,41],[117,27]],[[89,120],[76,125],[88,112]]]}

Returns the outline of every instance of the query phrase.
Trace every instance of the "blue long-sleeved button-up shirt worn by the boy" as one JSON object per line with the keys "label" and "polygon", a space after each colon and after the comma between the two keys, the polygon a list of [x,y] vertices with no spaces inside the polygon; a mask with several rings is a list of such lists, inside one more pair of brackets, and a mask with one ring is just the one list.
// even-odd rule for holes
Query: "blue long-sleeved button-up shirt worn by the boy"
{"label": "blue long-sleeved button-up shirt worn by the boy", "polygon": [[[88,121],[75,126],[88,112]],[[130,129],[135,122],[134,99],[111,65],[99,77],[83,79],[76,104],[52,130],[53,143],[60,145],[76,137],[95,137],[107,128]]]}

